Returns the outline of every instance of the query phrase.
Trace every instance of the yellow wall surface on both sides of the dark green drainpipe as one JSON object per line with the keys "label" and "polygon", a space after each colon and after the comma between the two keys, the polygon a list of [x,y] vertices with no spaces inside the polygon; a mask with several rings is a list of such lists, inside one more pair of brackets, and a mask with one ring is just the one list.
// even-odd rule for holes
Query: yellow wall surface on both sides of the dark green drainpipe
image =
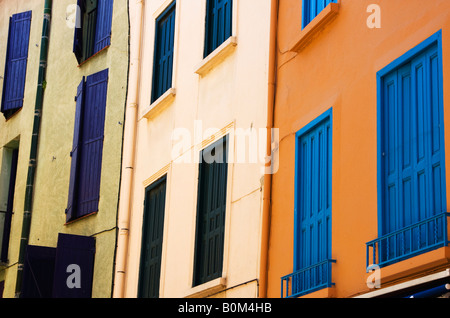
{"label": "yellow wall surface on both sides of the dark green drainpipe", "polygon": [[[27,173],[30,135],[34,113],[35,86],[37,83],[39,43],[42,30],[43,1],[18,1],[22,6],[10,5],[11,1],[0,3],[5,8],[2,13],[2,30],[7,31],[6,17],[31,7],[30,54],[27,74],[25,107],[20,117],[12,119],[11,124],[0,122],[1,144],[18,134],[21,135],[20,165],[18,172],[16,210],[12,230],[11,262],[17,259],[21,232],[24,184]],[[33,217],[29,244],[56,247],[58,233],[95,236],[96,254],[92,297],[110,297],[112,288],[114,252],[116,244],[117,204],[120,183],[122,134],[124,108],[127,90],[128,70],[128,12],[126,0],[115,0],[112,19],[111,46],[78,66],[73,54],[74,29],[70,22],[74,10],[70,6],[74,0],[53,1],[51,32],[48,54],[47,86],[44,96],[41,122],[38,168],[36,172]],[[2,43],[4,33],[1,33]],[[7,35],[6,35],[7,36]],[[4,60],[4,50],[0,57]],[[3,67],[3,65],[2,65]],[[65,225],[67,207],[73,130],[75,120],[75,101],[77,86],[83,76],[88,76],[109,68],[109,83],[106,105],[100,202],[98,213]],[[0,70],[1,71],[1,70]],[[30,84],[29,84],[30,83]],[[3,118],[2,118],[3,119]],[[1,120],[2,120],[1,119]],[[17,128],[11,128],[20,120]],[[23,132],[19,130],[21,128]],[[17,131],[14,131],[16,129]],[[3,133],[4,132],[4,133]],[[28,132],[28,133],[27,133]],[[5,141],[3,140],[5,139]],[[11,274],[9,274],[11,272]],[[15,284],[15,268],[8,271],[5,296],[12,296]],[[12,281],[11,281],[12,279]]]}

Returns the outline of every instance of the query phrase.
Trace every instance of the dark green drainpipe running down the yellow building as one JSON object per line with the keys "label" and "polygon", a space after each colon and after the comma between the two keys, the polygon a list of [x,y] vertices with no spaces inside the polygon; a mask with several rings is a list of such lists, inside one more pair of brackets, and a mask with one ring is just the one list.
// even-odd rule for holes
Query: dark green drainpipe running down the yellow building
{"label": "dark green drainpipe running down the yellow building", "polygon": [[30,161],[28,164],[27,184],[25,189],[25,204],[23,211],[22,235],[20,238],[19,259],[17,261],[16,298],[20,297],[22,289],[23,265],[25,250],[30,237],[31,213],[33,208],[34,179],[37,168],[37,151],[39,142],[39,129],[41,123],[42,104],[45,91],[45,72],[47,70],[48,39],[50,35],[50,19],[52,14],[52,0],[45,0],[44,23],[42,26],[41,52],[39,58],[39,77],[34,108],[33,132],[31,136]]}

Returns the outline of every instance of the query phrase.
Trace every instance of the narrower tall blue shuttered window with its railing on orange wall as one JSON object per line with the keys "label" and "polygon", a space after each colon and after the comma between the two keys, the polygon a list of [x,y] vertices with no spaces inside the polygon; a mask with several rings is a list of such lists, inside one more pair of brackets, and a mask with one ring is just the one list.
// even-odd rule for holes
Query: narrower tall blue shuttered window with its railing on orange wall
{"label": "narrower tall blue shuttered window with its railing on orange wall", "polygon": [[[294,273],[282,278],[285,297],[332,286],[331,109],[296,135]],[[283,294],[282,294],[283,296]]]}

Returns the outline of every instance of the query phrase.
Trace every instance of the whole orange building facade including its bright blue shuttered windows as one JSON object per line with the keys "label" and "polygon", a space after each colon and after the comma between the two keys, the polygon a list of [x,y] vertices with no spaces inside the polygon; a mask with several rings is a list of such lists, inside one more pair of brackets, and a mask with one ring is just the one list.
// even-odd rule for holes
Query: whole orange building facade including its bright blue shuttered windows
{"label": "whole orange building facade including its bright blue shuttered windows", "polygon": [[279,1],[266,296],[445,295],[450,3],[317,2]]}

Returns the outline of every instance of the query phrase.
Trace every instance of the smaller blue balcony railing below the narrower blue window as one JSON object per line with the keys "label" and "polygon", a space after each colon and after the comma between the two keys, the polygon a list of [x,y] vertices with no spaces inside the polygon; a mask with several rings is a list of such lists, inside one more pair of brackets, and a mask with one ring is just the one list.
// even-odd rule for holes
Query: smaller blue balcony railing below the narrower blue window
{"label": "smaller blue balcony railing below the narrower blue window", "polygon": [[281,277],[281,298],[299,297],[333,286],[334,283],[331,282],[332,263],[336,263],[336,261],[328,259]]}

